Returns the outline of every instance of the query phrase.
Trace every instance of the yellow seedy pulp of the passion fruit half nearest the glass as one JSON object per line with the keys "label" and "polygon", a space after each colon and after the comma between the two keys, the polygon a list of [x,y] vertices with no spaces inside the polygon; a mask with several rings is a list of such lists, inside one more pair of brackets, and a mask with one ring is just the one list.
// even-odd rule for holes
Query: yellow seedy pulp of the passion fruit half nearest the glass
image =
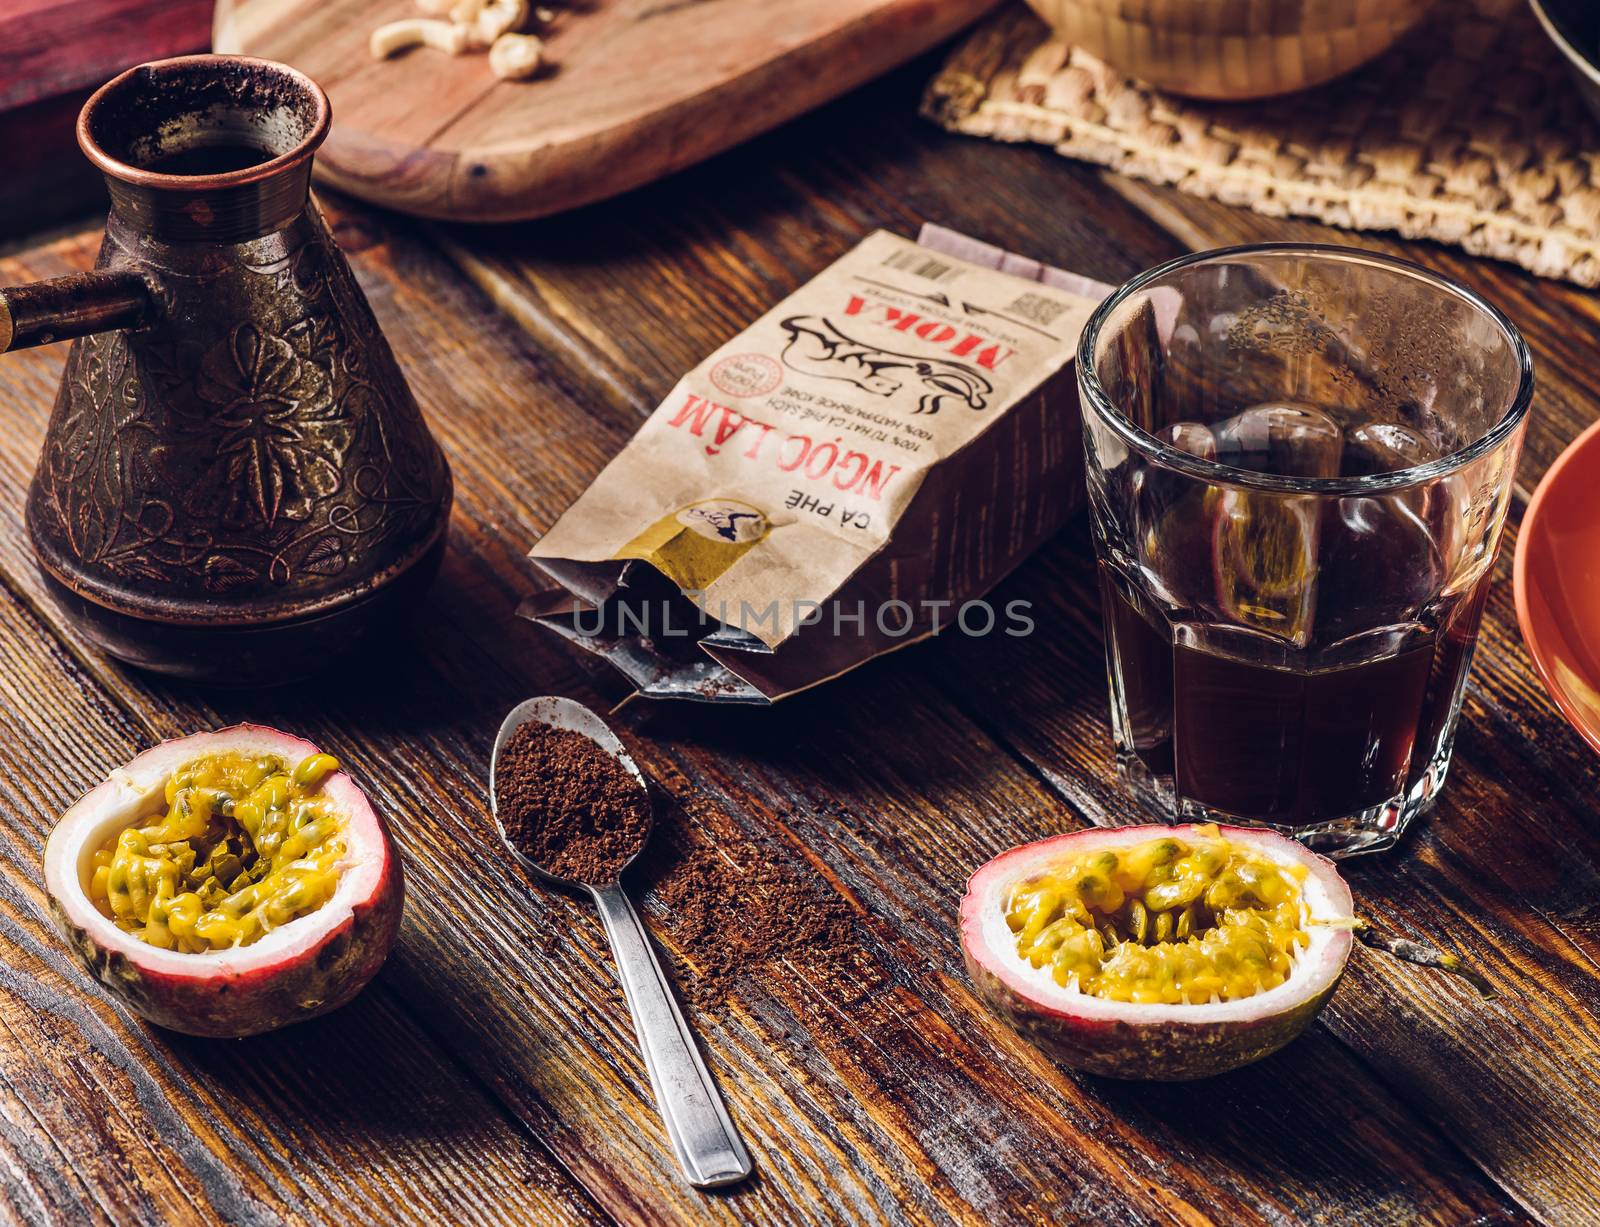
{"label": "yellow seedy pulp of the passion fruit half nearest the glass", "polygon": [[1086,853],[1013,888],[1018,953],[1107,1001],[1205,1005],[1283,984],[1309,945],[1307,870],[1211,827]]}

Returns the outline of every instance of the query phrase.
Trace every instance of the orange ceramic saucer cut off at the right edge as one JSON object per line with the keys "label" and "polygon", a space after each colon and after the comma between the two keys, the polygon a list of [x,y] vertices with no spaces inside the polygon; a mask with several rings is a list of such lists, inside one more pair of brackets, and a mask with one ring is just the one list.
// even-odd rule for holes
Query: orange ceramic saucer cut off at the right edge
{"label": "orange ceramic saucer cut off at the right edge", "polygon": [[1600,753],[1600,422],[1550,466],[1517,536],[1517,621],[1546,688]]}

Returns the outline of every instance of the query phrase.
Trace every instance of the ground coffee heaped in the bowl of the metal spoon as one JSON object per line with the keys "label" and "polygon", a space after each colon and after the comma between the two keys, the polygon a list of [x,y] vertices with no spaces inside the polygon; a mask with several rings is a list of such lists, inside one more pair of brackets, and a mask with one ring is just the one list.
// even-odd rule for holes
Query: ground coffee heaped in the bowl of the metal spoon
{"label": "ground coffee heaped in the bowl of the metal spoon", "polygon": [[650,835],[638,781],[581,733],[528,721],[494,761],[507,838],[534,864],[590,886],[616,881]]}

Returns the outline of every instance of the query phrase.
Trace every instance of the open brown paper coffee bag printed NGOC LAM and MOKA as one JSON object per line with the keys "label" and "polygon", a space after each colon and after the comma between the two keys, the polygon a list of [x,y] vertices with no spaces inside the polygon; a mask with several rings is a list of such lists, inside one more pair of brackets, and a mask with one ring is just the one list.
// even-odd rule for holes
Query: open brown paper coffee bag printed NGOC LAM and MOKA
{"label": "open brown paper coffee bag printed NGOC LAM and MOKA", "polygon": [[1109,291],[878,232],[678,381],[533,547],[523,613],[643,694],[770,702],[968,616],[1083,501]]}

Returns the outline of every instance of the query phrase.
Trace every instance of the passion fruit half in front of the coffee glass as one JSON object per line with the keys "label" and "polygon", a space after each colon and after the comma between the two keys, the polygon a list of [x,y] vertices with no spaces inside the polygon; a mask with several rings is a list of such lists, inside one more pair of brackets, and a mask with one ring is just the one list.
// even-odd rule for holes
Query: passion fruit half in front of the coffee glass
{"label": "passion fruit half in front of the coffee glass", "polygon": [[1331,861],[1270,830],[1093,829],[979,869],[962,901],[978,992],[1058,1061],[1178,1081],[1298,1037],[1350,957]]}

